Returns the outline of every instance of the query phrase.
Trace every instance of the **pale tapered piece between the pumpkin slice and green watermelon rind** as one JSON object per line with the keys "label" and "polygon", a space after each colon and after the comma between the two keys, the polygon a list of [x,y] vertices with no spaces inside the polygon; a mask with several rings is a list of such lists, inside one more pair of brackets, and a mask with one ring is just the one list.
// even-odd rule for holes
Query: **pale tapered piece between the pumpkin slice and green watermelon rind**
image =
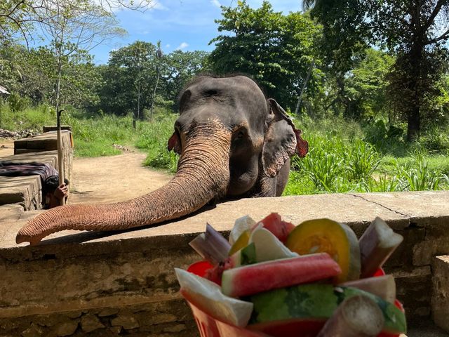
{"label": "pale tapered piece between the pumpkin slice and green watermelon rind", "polygon": [[344,282],[340,286],[351,286],[368,291],[368,293],[373,293],[389,303],[394,303],[396,300],[396,283],[393,275],[356,279],[355,281]]}

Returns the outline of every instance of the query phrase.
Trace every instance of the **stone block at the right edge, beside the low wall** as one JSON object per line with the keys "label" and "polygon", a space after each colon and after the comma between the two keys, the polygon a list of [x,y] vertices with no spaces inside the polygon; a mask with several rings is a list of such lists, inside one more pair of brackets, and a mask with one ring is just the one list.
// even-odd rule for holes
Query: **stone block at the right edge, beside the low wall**
{"label": "stone block at the right edge, beside the low wall", "polygon": [[449,256],[432,259],[434,273],[431,297],[432,319],[436,325],[449,333]]}

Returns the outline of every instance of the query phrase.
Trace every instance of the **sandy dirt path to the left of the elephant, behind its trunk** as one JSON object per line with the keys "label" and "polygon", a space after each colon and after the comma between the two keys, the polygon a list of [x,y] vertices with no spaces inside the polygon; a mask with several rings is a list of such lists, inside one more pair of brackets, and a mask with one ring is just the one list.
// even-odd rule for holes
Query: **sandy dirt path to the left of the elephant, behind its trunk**
{"label": "sandy dirt path to the left of the elephant, behind its trunk", "polygon": [[142,166],[145,154],[75,158],[69,204],[125,201],[168,183],[171,176]]}

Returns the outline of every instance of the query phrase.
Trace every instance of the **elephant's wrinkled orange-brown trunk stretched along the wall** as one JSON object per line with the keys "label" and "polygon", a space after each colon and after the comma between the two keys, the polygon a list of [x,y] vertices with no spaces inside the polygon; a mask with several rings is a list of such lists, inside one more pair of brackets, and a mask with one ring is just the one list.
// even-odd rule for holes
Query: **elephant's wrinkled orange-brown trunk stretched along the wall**
{"label": "elephant's wrinkled orange-brown trunk stretched along the wall", "polygon": [[217,128],[191,137],[175,177],[159,190],[114,204],[56,207],[30,220],[15,241],[37,244],[60,230],[126,230],[192,213],[226,191],[230,139],[229,131]]}

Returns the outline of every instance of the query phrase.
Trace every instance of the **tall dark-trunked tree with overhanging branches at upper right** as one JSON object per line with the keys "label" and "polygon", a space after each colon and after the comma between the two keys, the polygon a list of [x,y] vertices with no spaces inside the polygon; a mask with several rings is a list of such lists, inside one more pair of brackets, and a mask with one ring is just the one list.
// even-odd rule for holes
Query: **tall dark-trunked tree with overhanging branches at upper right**
{"label": "tall dark-trunked tree with overhanging branches at upper right", "polygon": [[[304,1],[311,4],[312,1]],[[321,51],[327,64],[344,76],[357,53],[377,44],[396,54],[389,74],[392,103],[408,124],[408,140],[420,136],[430,117],[432,97],[448,50],[449,3],[446,0],[316,0],[311,15],[323,25]],[[340,37],[340,39],[338,39]],[[347,66],[344,66],[347,65]]]}

